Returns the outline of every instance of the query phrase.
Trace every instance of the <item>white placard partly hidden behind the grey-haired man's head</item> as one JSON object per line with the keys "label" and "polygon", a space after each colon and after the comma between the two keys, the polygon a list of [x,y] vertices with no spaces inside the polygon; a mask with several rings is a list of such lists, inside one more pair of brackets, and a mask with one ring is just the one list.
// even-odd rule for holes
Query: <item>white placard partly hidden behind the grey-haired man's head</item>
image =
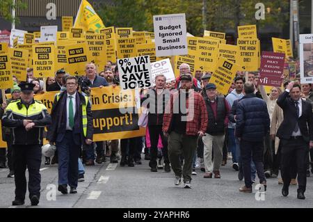
{"label": "white placard partly hidden behind the grey-haired man's head", "polygon": [[170,59],[166,58],[161,61],[151,63],[152,84],[155,86],[155,77],[158,74],[163,74],[166,77],[166,82],[175,80],[175,74],[170,65]]}

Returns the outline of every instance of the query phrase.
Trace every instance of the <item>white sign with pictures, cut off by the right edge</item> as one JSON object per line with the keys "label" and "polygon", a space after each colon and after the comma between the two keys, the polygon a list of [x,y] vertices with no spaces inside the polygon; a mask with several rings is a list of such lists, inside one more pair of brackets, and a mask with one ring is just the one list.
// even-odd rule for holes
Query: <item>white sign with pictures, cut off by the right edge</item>
{"label": "white sign with pictures, cut off by the right edge", "polygon": [[313,34],[300,35],[300,82],[313,83]]}

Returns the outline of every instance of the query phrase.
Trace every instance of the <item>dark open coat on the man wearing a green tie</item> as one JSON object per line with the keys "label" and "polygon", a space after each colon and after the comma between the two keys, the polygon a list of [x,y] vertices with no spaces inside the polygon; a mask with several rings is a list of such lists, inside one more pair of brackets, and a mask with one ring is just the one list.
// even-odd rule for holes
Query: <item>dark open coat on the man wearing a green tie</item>
{"label": "dark open coat on the man wearing a green tie", "polygon": [[[66,99],[67,99],[67,91],[60,93],[60,98],[57,100],[57,97],[54,99],[54,104],[51,110],[51,118],[52,124],[47,132],[47,140],[55,143],[61,142],[65,131],[66,131]],[[74,129],[73,135],[74,138],[77,138],[75,143],[77,145],[81,145],[84,143],[86,138],[93,139],[93,116],[91,112],[90,101],[86,104],[87,111],[87,133],[86,137],[83,135],[83,114],[82,114],[82,106],[86,104],[85,97],[77,92],[76,96],[76,112],[74,116]]]}

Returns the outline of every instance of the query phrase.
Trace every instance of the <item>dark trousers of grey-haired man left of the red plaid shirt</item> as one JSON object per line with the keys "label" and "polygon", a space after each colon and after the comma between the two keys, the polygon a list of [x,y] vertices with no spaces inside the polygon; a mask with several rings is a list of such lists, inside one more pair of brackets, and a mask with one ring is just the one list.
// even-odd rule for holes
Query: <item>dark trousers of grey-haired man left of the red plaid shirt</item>
{"label": "dark trousers of grey-haired man left of the red plaid shirt", "polygon": [[170,160],[168,159],[168,138],[163,135],[162,132],[162,125],[152,125],[149,126],[149,134],[150,134],[150,164],[149,166],[155,167],[157,166],[157,157],[158,157],[158,142],[159,142],[159,136],[161,136],[162,140],[162,154],[164,157],[164,163],[170,164]]}

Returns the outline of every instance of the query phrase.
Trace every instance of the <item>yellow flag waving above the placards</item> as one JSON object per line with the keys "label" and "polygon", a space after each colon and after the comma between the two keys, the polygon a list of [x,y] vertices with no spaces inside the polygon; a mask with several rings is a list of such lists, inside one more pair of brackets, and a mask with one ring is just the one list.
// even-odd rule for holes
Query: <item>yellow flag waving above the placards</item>
{"label": "yellow flag waving above the placards", "polygon": [[100,33],[100,30],[105,28],[102,19],[86,0],[81,1],[73,27],[85,31],[95,31],[95,33]]}

